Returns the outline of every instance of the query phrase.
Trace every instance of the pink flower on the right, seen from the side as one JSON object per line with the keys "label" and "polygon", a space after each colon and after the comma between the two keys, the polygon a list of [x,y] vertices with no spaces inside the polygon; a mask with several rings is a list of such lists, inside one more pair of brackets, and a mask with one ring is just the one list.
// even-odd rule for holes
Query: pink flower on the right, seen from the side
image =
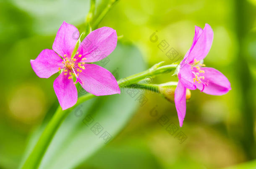
{"label": "pink flower on the right, seen from the side", "polygon": [[180,62],[178,72],[178,85],[175,89],[175,106],[178,112],[180,127],[186,114],[186,88],[210,95],[223,95],[231,90],[230,82],[214,68],[204,67],[201,60],[208,54],[213,40],[213,31],[210,25],[205,24],[204,29],[196,26],[191,48]]}

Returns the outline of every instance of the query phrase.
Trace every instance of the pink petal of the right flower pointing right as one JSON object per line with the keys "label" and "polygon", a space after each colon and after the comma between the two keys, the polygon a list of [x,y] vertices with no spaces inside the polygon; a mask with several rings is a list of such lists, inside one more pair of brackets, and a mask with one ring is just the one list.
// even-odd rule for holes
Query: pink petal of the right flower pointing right
{"label": "pink petal of the right flower pointing right", "polygon": [[[201,68],[205,73],[201,74],[204,76],[204,83],[207,83],[207,86],[204,86],[203,92],[210,95],[223,95],[231,90],[230,82],[220,71],[214,68]],[[202,83],[195,83],[196,87],[199,90],[203,89]]]}

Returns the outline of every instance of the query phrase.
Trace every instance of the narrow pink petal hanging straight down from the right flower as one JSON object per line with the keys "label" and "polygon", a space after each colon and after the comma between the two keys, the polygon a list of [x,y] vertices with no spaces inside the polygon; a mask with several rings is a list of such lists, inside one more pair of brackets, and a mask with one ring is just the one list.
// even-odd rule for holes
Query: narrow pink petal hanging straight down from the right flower
{"label": "narrow pink petal hanging straight down from the right flower", "polygon": [[182,127],[186,114],[186,88],[182,83],[180,83],[180,81],[178,82],[177,88],[175,89],[174,102],[178,113],[180,127]]}

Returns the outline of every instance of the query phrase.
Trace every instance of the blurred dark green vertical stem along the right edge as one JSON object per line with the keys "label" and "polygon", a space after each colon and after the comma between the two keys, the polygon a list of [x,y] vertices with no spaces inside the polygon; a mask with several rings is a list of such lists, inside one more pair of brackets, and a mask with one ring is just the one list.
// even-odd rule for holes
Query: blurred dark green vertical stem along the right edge
{"label": "blurred dark green vertical stem along the right edge", "polygon": [[[234,60],[234,73],[237,79],[237,85],[240,87],[242,95],[238,96],[240,102],[238,102],[238,112],[240,112],[239,124],[237,127],[231,127],[235,140],[239,140],[243,146],[245,154],[248,160],[255,159],[256,157],[256,145],[255,145],[255,101],[253,101],[254,93],[251,92],[253,86],[253,76],[249,68],[249,60],[251,56],[248,55],[246,41],[248,36],[251,35],[252,25],[255,15],[255,7],[246,0],[235,0],[235,23],[236,23],[236,35],[238,39],[238,55]],[[245,19],[246,18],[246,19]],[[237,69],[239,66],[239,70]],[[239,90],[239,87],[236,90]]]}

